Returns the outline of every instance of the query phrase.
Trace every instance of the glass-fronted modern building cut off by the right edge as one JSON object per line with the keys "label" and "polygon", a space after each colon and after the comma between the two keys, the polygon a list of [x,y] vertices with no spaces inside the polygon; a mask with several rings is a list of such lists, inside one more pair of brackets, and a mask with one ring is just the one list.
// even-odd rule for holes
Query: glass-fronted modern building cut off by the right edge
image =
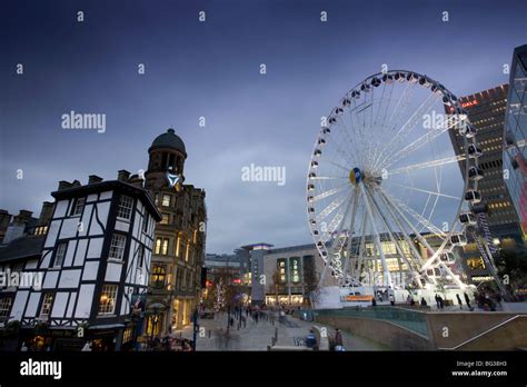
{"label": "glass-fronted modern building cut off by the right edge", "polygon": [[510,198],[519,216],[524,242],[527,238],[527,44],[514,50],[504,130],[504,172]]}

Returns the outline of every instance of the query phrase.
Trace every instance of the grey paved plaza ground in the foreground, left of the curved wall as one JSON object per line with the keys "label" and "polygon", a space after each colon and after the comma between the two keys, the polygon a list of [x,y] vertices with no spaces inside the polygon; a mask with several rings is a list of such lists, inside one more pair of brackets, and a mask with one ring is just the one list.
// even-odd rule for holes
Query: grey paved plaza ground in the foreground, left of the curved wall
{"label": "grey paved plaza ground in the foreground, left of the curved wall", "polygon": [[[269,312],[270,314],[270,312]],[[245,316],[245,314],[243,314]],[[268,319],[259,319],[258,322],[251,317],[246,318],[246,326],[235,326],[227,333],[228,315],[216,314],[213,319],[199,319],[199,331],[197,334],[196,350],[267,350],[272,345],[277,335],[277,346],[304,346],[304,338],[309,333],[314,322],[304,321],[298,318],[286,316],[286,322]],[[335,329],[326,327],[329,337],[335,337]],[[367,338],[342,331],[342,344],[346,350],[387,350],[388,348]],[[192,326],[176,331],[179,337],[192,339]]]}

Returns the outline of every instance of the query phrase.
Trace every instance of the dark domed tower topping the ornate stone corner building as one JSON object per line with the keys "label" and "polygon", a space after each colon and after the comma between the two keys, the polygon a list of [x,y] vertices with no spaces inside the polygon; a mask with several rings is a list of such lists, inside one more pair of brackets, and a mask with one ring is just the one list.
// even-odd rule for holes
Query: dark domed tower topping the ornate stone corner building
{"label": "dark domed tower topping the ornate stone corner building", "polygon": [[181,177],[185,180],[183,168],[187,159],[183,140],[176,135],[172,128],[159,135],[148,149],[148,170],[145,173],[145,187],[156,190],[168,187],[167,171]]}

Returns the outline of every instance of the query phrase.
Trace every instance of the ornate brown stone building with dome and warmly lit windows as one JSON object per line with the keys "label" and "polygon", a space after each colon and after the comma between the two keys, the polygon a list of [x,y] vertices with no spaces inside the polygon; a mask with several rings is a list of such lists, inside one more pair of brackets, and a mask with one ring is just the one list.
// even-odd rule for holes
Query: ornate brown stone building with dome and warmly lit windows
{"label": "ornate brown stone building with dome and warmly lit windows", "polygon": [[146,335],[166,335],[192,321],[201,296],[207,209],[205,190],[185,185],[185,143],[173,129],[148,149],[145,188],[162,215],[156,225]]}

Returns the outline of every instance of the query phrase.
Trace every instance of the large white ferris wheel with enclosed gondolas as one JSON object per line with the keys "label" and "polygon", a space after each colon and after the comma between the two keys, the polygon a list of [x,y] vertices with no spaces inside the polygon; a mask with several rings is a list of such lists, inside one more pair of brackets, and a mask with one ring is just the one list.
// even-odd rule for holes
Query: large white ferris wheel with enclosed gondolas
{"label": "large white ferris wheel with enclosed gondolas", "polygon": [[406,70],[359,82],[322,119],[307,176],[325,275],[340,286],[464,287],[456,251],[477,225],[480,155],[441,83]]}

